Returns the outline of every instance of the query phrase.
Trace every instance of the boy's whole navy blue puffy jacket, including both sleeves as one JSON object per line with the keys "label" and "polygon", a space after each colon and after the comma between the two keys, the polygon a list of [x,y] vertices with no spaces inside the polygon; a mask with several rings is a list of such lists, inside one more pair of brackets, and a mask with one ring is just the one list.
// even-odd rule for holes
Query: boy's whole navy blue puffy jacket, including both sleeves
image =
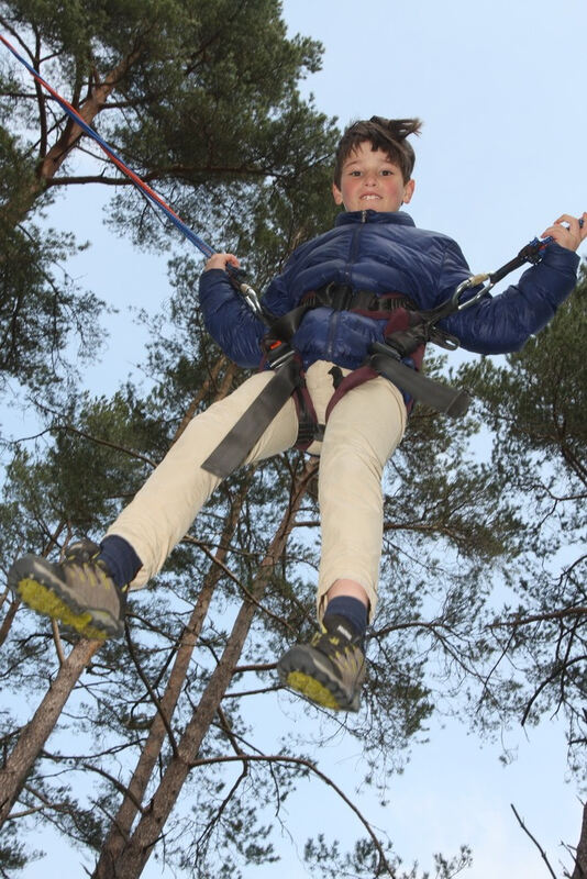
{"label": "boy's whole navy blue puffy jacket, including both sleeves", "polygon": [[[518,351],[542,330],[576,283],[578,256],[550,244],[539,265],[517,285],[440,323],[464,348],[480,354]],[[420,309],[431,309],[452,296],[470,276],[458,245],[446,235],[417,229],[403,212],[342,213],[330,232],[298,247],[263,299],[280,315],[296,308],[304,293],[330,281],[383,294],[408,296]],[[243,367],[258,366],[264,324],[254,316],[228,276],[203,272],[200,302],[206,326],[226,355]],[[321,307],[309,311],[294,346],[304,368],[323,359],[348,369],[361,366],[373,342],[383,342],[388,315],[367,316]]]}

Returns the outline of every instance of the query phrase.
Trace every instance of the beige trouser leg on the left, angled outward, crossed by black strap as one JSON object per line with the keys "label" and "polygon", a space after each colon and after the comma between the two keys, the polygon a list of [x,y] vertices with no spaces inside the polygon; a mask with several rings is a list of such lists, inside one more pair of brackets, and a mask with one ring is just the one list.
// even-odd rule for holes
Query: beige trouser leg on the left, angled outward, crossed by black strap
{"label": "beige trouser leg on the left, angled outward, crossed by black strap", "polygon": [[[272,379],[248,378],[232,394],[197,415],[131,503],[108,530],[128,541],[143,563],[131,588],[144,586],[163,567],[197,513],[220,483],[201,464]],[[298,419],[290,399],[248,454],[245,464],[276,455],[296,442]]]}

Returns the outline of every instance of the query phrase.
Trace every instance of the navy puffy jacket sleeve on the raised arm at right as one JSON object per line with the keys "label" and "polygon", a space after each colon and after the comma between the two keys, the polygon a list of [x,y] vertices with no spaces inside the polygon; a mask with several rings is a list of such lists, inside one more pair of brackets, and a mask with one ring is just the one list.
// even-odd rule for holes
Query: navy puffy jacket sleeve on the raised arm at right
{"label": "navy puffy jacket sleeve on the raised arm at right", "polygon": [[[461,345],[478,354],[519,351],[553,318],[577,282],[579,257],[555,242],[542,260],[502,293],[487,293],[476,305],[440,322]],[[454,289],[453,288],[453,292]]]}

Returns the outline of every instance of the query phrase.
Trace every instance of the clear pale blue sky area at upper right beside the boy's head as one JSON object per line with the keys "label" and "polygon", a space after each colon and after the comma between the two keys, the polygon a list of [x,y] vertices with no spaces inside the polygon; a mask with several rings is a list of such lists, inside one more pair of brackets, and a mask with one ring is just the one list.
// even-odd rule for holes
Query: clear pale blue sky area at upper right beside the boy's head
{"label": "clear pale blue sky area at upper right beside the boy's head", "polygon": [[[341,124],[418,115],[416,196],[424,227],[454,235],[473,267],[505,262],[563,211],[585,210],[587,7],[545,0],[284,4],[325,46],[307,81]],[[583,97],[583,100],[582,100]]]}

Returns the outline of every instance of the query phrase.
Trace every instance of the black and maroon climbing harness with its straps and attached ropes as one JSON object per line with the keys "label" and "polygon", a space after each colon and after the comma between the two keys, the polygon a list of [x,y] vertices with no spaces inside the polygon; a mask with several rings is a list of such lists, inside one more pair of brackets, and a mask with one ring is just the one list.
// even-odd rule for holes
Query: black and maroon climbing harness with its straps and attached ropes
{"label": "black and maroon climbing harness with its straps and attached ropes", "polygon": [[[129,168],[106,141],[88,125],[79,112],[43,79],[41,74],[16,52],[2,34],[0,34],[0,42],[26,67],[35,80],[55,98],[65,113],[100,146],[119,170],[130,178],[145,198],[166,214],[188,241],[207,257],[215,253],[212,247],[182,222],[157,192]],[[579,224],[583,226],[583,220],[579,220]],[[455,351],[459,345],[458,340],[445,333],[438,326],[438,323],[455,312],[477,304],[498,281],[524,263],[539,263],[551,241],[552,238],[549,237],[544,240],[534,238],[525,247],[522,247],[519,254],[509,263],[506,263],[496,271],[474,275],[467,278],[456,288],[452,297],[438,308],[429,311],[416,309],[411,300],[399,293],[391,292],[387,296],[378,297],[367,290],[354,290],[345,285],[330,283],[320,290],[309,292],[300,305],[292,311],[281,316],[275,316],[267,312],[255,290],[244,281],[243,276],[245,272],[234,266],[226,265],[231,282],[241,292],[255,316],[263,321],[267,327],[264,340],[265,365],[274,370],[274,375],[234,427],[207,458],[202,467],[220,478],[225,478],[232,474],[243,463],[257,439],[292,394],[298,407],[300,422],[297,446],[304,448],[314,439],[321,438],[323,425],[318,425],[315,422],[313,407],[308,394],[304,393],[306,383],[301,361],[290,344],[306,313],[310,309],[321,305],[326,305],[335,311],[350,310],[364,314],[389,312],[398,318],[395,321],[397,325],[388,333],[385,343],[377,342],[372,345],[362,367],[344,379],[341,378],[340,370],[339,374],[333,374],[335,393],[330,407],[336,399],[340,399],[340,396],[347,388],[355,387],[361,381],[381,375],[409,397],[420,400],[439,412],[452,418],[464,415],[472,400],[466,391],[451,388],[428,378],[418,369],[406,364],[405,359],[410,358],[414,365],[418,365],[418,361],[421,361],[424,346],[429,342],[447,351]],[[326,418],[329,411],[326,411]]]}

